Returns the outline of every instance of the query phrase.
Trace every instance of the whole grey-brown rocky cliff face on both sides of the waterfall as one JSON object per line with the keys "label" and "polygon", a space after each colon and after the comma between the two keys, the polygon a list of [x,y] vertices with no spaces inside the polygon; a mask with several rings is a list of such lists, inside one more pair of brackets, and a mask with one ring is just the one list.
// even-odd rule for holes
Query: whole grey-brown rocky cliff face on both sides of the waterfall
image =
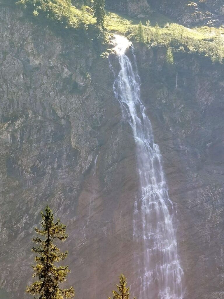
{"label": "whole grey-brown rocky cliff face on both sides of the waterfall", "polygon": [[[132,283],[139,250],[135,145],[108,60],[80,32],[3,5],[0,34],[0,286],[10,298],[27,298],[30,239],[48,203],[68,228],[68,285],[79,298],[106,298],[121,272]],[[142,99],[177,204],[186,299],[224,298],[223,66],[178,54],[168,68],[164,49],[135,48]],[[116,68],[115,56],[111,63]]]}

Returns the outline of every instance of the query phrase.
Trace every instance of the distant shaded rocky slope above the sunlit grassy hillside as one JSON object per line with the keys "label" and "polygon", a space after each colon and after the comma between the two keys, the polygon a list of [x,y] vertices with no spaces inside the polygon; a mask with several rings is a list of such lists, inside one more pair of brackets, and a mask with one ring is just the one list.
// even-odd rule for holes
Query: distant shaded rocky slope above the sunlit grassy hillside
{"label": "distant shaded rocky slope above the sunlit grassy hillside", "polygon": [[112,1],[106,0],[109,9],[126,13],[130,16],[144,15],[150,19],[150,12],[156,11],[176,19],[186,26],[221,26],[224,25],[224,1],[218,0],[141,0]]}

